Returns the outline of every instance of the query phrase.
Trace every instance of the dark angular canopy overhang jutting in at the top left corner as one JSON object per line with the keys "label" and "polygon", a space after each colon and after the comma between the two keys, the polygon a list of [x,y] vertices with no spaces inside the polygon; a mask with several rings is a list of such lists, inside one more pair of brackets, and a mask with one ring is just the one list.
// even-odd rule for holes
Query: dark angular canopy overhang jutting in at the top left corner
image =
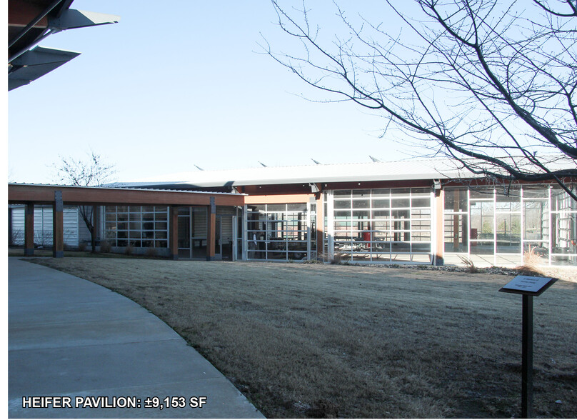
{"label": "dark angular canopy overhang jutting in at the top left corner", "polygon": [[80,53],[36,46],[66,29],[115,24],[119,16],[70,9],[73,0],[9,0],[8,90],[39,79]]}

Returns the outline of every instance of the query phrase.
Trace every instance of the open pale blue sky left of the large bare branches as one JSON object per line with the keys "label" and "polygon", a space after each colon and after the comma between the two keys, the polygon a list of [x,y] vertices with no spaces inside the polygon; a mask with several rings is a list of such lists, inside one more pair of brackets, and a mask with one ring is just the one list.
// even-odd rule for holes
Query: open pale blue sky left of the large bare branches
{"label": "open pale blue sky left of the large bare branches", "polygon": [[[9,92],[13,182],[54,182],[59,155],[90,150],[117,181],[259,166],[403,159],[378,139],[385,121],[315,92],[259,54],[261,34],[286,36],[268,0],[76,0],[72,9],[121,16],[72,29],[42,46],[79,51],[59,69]],[[319,22],[322,24],[322,22]]]}

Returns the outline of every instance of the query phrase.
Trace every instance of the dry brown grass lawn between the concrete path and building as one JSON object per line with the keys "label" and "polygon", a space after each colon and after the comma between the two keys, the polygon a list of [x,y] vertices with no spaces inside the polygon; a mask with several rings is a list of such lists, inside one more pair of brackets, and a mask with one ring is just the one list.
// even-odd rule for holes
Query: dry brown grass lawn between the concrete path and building
{"label": "dry brown grass lawn between the concrete path and building", "polygon": [[[520,415],[511,277],[416,269],[35,259],[166,321],[272,417]],[[536,414],[577,417],[577,284],[535,299]],[[556,402],[561,401],[561,403]]]}

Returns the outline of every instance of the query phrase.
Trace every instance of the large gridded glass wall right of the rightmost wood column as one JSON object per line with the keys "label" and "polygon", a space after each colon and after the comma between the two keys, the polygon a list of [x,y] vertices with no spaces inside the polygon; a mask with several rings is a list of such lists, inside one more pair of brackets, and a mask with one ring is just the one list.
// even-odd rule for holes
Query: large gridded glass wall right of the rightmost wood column
{"label": "large gridded glass wall right of the rightmost wood column", "polygon": [[444,195],[449,264],[459,262],[451,256],[458,253],[475,264],[577,263],[577,204],[562,189],[512,186],[503,194],[463,187]]}

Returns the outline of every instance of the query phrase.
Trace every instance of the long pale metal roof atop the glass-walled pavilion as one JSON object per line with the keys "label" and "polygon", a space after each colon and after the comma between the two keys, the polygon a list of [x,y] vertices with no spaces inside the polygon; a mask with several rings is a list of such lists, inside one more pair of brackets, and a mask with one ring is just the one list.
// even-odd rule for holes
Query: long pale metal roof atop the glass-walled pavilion
{"label": "long pale metal roof atop the glass-walled pavilion", "polygon": [[361,164],[315,164],[259,167],[221,171],[189,171],[119,183],[121,186],[246,186],[306,184],[348,181],[404,181],[418,179],[471,178],[449,159],[369,162]]}

